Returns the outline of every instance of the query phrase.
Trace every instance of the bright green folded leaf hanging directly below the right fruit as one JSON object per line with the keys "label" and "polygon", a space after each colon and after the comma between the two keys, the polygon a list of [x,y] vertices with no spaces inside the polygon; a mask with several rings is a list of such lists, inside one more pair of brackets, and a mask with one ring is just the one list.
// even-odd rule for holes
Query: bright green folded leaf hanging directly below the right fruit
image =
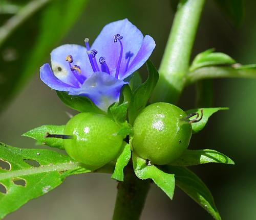
{"label": "bright green folded leaf hanging directly below the right fruit", "polygon": [[154,165],[147,165],[146,161],[133,152],[133,168],[139,179],[152,179],[172,200],[174,196],[175,178],[173,174],[164,173]]}

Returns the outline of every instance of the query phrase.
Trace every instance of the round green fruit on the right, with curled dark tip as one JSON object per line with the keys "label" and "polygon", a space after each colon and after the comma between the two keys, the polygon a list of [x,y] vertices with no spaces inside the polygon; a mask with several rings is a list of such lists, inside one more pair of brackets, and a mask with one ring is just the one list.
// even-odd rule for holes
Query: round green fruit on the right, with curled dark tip
{"label": "round green fruit on the right, with curled dark tip", "polygon": [[186,113],[169,103],[144,108],[134,121],[133,150],[153,164],[168,164],[187,149],[192,127]]}

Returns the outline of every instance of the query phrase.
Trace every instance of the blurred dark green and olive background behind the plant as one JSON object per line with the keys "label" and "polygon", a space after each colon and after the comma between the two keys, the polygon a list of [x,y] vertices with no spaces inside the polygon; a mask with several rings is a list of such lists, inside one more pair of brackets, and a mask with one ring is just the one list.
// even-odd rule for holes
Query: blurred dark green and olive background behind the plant
{"label": "blurred dark green and olive background behind the plant", "polygon": [[[207,1],[193,56],[215,47],[217,51],[229,54],[242,64],[255,63],[256,5],[253,0],[245,1],[244,5],[243,23],[240,28],[233,29],[219,8],[212,1]],[[78,9],[71,4],[70,10],[76,13]],[[174,12],[168,0],[90,1],[75,25],[57,45],[82,45],[85,37],[93,41],[106,23],[127,17],[143,34],[149,34],[155,39],[156,49],[151,60],[159,66],[173,16]],[[2,16],[1,23],[7,17]],[[31,33],[31,39],[33,34]],[[19,37],[15,36],[17,39]],[[29,42],[30,38],[23,40]],[[0,55],[4,56],[3,50]],[[49,60],[50,56],[39,60],[40,65]],[[9,65],[13,65],[12,61]],[[2,72],[5,66],[1,63],[0,66]],[[66,112],[75,113],[65,107],[56,93],[40,81],[39,67],[0,114],[0,140],[7,144],[22,148],[38,147],[32,139],[20,135],[43,124],[66,124],[69,119]],[[140,72],[146,76],[143,68]],[[4,85],[1,77],[3,76],[0,75],[2,87]],[[214,88],[214,106],[225,106],[230,110],[212,116],[206,128],[193,136],[189,148],[215,149],[230,156],[236,165],[206,164],[193,167],[193,170],[211,190],[223,219],[256,219],[256,80],[215,80]],[[195,107],[195,94],[195,86],[186,88],[180,107]],[[30,201],[6,219],[111,219],[116,186],[116,181],[110,175],[86,174],[68,177],[59,187]],[[152,184],[141,219],[212,218],[180,189],[176,188],[174,200],[170,201]]]}

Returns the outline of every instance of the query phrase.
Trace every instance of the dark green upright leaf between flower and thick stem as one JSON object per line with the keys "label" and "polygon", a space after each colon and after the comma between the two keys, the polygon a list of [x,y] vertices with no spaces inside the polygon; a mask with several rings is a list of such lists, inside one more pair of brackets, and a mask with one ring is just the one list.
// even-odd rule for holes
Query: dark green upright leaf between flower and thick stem
{"label": "dark green upright leaf between flower and thick stem", "polygon": [[132,95],[132,100],[129,107],[130,124],[133,124],[136,116],[143,108],[145,108],[159,78],[158,71],[150,60],[146,61],[146,66],[148,70],[148,78],[135,90]]}

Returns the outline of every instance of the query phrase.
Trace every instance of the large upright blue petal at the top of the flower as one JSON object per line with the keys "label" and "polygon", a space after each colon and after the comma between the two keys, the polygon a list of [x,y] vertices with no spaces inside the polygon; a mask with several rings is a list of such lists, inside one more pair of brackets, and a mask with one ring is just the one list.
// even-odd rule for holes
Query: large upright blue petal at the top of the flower
{"label": "large upright blue petal at the top of the flower", "polygon": [[120,34],[123,44],[123,55],[120,67],[120,73],[125,70],[125,54],[133,53],[130,63],[139,52],[143,42],[143,34],[128,19],[115,21],[106,25],[92,45],[92,49],[98,51],[97,57],[105,57],[106,64],[110,69],[110,74],[115,76],[116,66],[120,55],[120,44],[114,42],[113,36]]}

